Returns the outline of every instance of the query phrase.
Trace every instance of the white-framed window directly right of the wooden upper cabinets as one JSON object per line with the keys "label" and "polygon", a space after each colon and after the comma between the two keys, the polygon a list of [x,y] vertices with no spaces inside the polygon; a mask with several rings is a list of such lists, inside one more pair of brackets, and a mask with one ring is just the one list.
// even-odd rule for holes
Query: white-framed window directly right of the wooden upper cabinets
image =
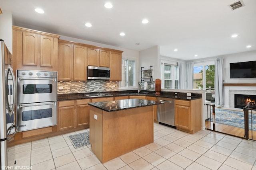
{"label": "white-framed window directly right of the wooden upper cabinets", "polygon": [[135,60],[122,59],[122,81],[120,87],[135,87],[136,64]]}

